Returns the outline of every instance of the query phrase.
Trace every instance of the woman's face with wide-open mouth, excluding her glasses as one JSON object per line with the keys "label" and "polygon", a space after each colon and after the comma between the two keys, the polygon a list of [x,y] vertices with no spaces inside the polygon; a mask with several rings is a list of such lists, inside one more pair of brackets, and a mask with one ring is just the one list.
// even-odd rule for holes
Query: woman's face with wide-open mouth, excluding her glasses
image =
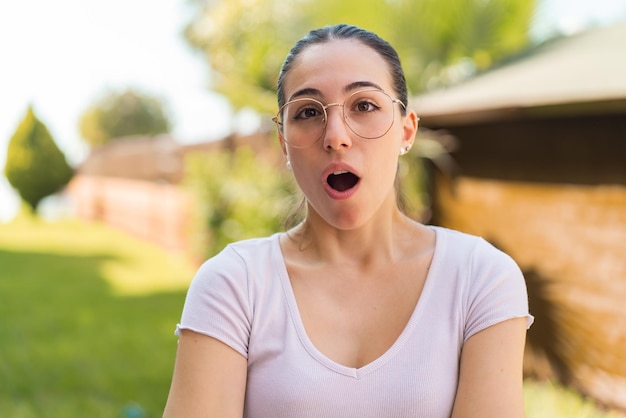
{"label": "woman's face with wide-open mouth, excluding her glasses", "polygon": [[[344,103],[352,93],[372,88],[397,98],[387,62],[357,40],[333,40],[300,53],[285,78],[284,94],[286,101],[306,97],[327,105]],[[306,196],[309,217],[314,211],[329,225],[348,230],[396,207],[398,157],[413,143],[417,117],[412,111],[402,116],[400,104],[391,106],[393,125],[380,138],[357,136],[344,122],[341,106],[327,108],[326,130],[313,145],[293,147],[283,137],[284,133],[289,139],[293,131],[279,132],[283,152]]]}

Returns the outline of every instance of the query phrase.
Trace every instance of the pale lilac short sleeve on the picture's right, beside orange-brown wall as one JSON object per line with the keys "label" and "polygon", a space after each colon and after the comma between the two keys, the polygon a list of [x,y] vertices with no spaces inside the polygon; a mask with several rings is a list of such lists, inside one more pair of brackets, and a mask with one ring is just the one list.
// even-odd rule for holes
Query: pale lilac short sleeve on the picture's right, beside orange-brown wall
{"label": "pale lilac short sleeve on the picture's right, beside orange-brown wall", "polygon": [[499,322],[534,318],[528,311],[524,276],[515,261],[504,252],[479,239],[471,259],[466,300],[464,341]]}

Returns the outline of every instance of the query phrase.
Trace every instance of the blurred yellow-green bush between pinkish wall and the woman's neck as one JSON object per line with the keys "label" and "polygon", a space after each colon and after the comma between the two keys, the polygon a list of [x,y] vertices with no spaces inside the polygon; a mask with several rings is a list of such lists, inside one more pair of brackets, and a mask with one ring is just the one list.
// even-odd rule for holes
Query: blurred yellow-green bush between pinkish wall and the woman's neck
{"label": "blurred yellow-green bush between pinkish wall and the woman's neck", "polygon": [[210,257],[233,241],[284,229],[295,194],[291,176],[257,160],[250,148],[191,154],[185,168],[196,200],[196,255]]}

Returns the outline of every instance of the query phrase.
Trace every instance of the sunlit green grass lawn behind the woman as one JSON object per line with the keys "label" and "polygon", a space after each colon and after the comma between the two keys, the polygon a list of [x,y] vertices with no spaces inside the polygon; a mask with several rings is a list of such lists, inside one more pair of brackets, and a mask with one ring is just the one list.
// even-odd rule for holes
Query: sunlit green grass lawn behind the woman
{"label": "sunlit green grass lawn behind the woman", "polygon": [[[194,266],[76,220],[0,224],[0,417],[160,417]],[[616,418],[525,383],[527,417]]]}

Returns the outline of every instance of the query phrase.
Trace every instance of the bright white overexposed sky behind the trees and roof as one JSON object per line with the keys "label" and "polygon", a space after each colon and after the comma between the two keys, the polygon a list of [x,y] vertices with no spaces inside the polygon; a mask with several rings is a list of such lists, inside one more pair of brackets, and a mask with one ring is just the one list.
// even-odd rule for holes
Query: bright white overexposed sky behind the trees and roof
{"label": "bright white overexposed sky behind the trees and roof", "polygon": [[[626,0],[539,0],[531,34],[574,33],[626,19]],[[181,143],[213,140],[254,118],[234,115],[210,91],[209,68],[182,37],[186,0],[19,0],[0,2],[0,168],[29,105],[72,165],[88,148],[80,115],[107,89],[160,98]],[[237,121],[238,123],[234,122]],[[2,173],[4,170],[1,170]],[[0,222],[18,199],[0,174]]]}

